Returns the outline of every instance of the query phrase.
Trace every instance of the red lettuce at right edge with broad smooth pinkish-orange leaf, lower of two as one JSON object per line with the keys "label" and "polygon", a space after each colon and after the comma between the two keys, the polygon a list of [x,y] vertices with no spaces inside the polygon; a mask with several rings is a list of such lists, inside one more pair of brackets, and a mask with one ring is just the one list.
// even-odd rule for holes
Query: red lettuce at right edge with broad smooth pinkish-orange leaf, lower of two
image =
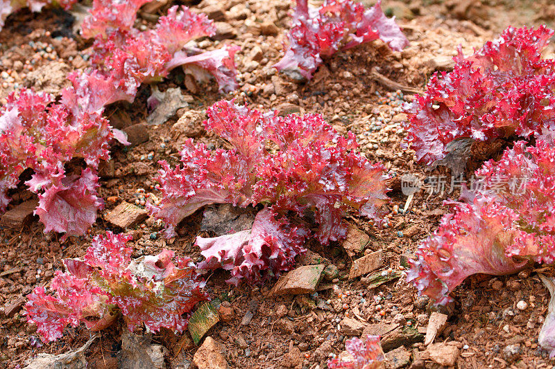
{"label": "red lettuce at right edge with broad smooth pinkish-orange leaf, lower of two", "polygon": [[555,149],[520,141],[477,170],[471,204],[453,203],[416,251],[407,280],[438,304],[475,273],[511,274],[555,260]]}

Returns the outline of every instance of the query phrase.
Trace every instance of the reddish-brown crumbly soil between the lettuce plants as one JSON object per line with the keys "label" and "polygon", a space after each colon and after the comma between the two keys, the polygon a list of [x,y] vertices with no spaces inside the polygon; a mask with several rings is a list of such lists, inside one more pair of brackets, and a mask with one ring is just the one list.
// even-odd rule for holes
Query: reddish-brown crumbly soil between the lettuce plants
{"label": "reddish-brown crumbly soil between the lettuce plants", "polygon": [[[370,1],[369,3],[372,3]],[[171,1],[159,11],[164,14]],[[223,343],[225,359],[231,368],[325,368],[330,354],[339,354],[350,338],[339,329],[346,316],[356,316],[366,323],[401,324],[426,327],[432,311],[425,298],[407,285],[401,259],[410,255],[423,238],[438,226],[447,211],[442,201],[456,198],[447,182],[443,194],[417,192],[407,213],[399,209],[407,204],[400,190],[402,174],[420,178],[447,175],[444,169],[430,171],[414,163],[413,151],[404,148],[405,133],[401,123],[406,119],[402,104],[410,101],[414,91],[423,91],[429,76],[436,69],[449,69],[450,57],[461,45],[463,53],[471,53],[488,39],[493,39],[506,26],[533,26],[553,22],[555,6],[550,0],[415,0],[382,1],[382,8],[398,16],[411,45],[402,52],[392,52],[382,42],[372,42],[350,51],[337,53],[318,69],[313,80],[296,83],[280,75],[271,66],[282,55],[284,30],[289,26],[289,2],[249,0],[204,0],[189,4],[202,11],[211,6],[223,10],[220,19],[232,26],[221,41],[205,39],[203,48],[237,44],[240,88],[222,96],[215,84],[198,86],[178,72],[171,73],[158,84],[161,91],[179,87],[192,101],[188,108],[161,125],[148,125],[148,141],[134,147],[112,147],[113,170],[106,166],[101,179],[100,195],[105,208],[84,237],[69,237],[59,242],[59,235],[45,235],[37,219],[23,224],[17,231],[0,229],[0,367],[21,368],[24,361],[46,352],[60,354],[80,348],[91,334],[84,327],[68,328],[62,339],[41,344],[36,327],[28,325],[23,310],[26,294],[37,286],[48,285],[54,272],[62,268],[62,259],[83,255],[92,237],[112,229],[105,215],[121,201],[135,203],[139,190],[159,195],[153,177],[159,169],[157,161],[176,163],[180,145],[189,136],[222,147],[224,143],[207,134],[202,127],[205,109],[221,98],[236,98],[257,109],[317,112],[323,114],[342,133],[351,130],[357,135],[360,151],[371,161],[382,161],[392,175],[389,192],[391,213],[388,227],[375,228],[356,214],[345,221],[370,235],[364,254],[382,250],[384,263],[380,271],[398,271],[401,277],[369,289],[361,278],[348,280],[353,258],[341,244],[321,246],[311,242],[311,251],[324,255],[339,269],[331,288],[318,291],[318,296],[268,296],[275,280],[261,286],[242,285],[238,288],[225,283],[228,278],[216,272],[207,283],[211,298],[228,300],[226,322],[220,322],[207,335]],[[366,4],[369,5],[369,4]],[[221,12],[220,12],[221,14]],[[139,17],[139,24],[148,26],[152,16]],[[22,10],[6,21],[0,32],[0,102],[8,93],[22,87],[57,93],[65,87],[65,75],[85,68],[90,43],[72,31],[74,18],[62,10],[31,13]],[[275,24],[277,28],[261,27]],[[256,48],[262,50],[262,57]],[[255,49],[255,50],[253,50]],[[548,48],[547,55],[553,48]],[[259,53],[258,53],[259,54]],[[402,84],[408,89],[380,82],[375,72]],[[412,91],[412,92],[411,92]],[[106,109],[114,127],[125,129],[135,123],[146,123],[146,98],[151,87],[144,85],[133,104],[117,103]],[[185,115],[187,126],[174,127]],[[22,188],[12,193],[12,205],[31,199]],[[179,255],[194,260],[200,251],[192,244],[200,232],[202,211],[185,219],[178,237],[164,239],[159,224],[147,219],[133,231],[134,256],[153,254],[167,247]],[[515,276],[473,276],[454,291],[454,303],[442,312],[448,314],[447,325],[436,342],[445,342],[460,349],[456,366],[459,368],[551,368],[554,360],[538,348],[538,332],[547,312],[549,292],[533,270]],[[309,300],[326,300],[323,308],[312,306]],[[527,307],[517,308],[524,300]],[[308,301],[308,302],[307,302]],[[228,305],[228,304],[226,304]],[[520,304],[522,306],[522,304]],[[14,309],[15,307],[15,309]],[[10,316],[7,313],[10,312]],[[246,314],[253,314],[248,324],[241,324]],[[117,352],[121,350],[123,321],[99,332],[100,339],[87,349],[89,368],[116,368]],[[162,331],[153,335],[153,342],[168,350],[168,368],[187,368],[198,346],[183,347],[182,336]],[[518,345],[518,354],[508,355],[507,346]],[[422,341],[407,342],[413,352],[425,349]],[[514,346],[511,346],[514,348]],[[426,361],[425,366],[438,364]],[[416,366],[413,366],[416,367]]]}

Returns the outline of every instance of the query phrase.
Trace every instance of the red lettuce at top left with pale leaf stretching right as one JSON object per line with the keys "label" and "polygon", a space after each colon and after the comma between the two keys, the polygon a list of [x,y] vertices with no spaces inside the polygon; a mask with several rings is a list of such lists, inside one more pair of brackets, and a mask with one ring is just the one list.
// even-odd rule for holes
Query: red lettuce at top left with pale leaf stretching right
{"label": "red lettuce at top left with pale leaf stretching right", "polygon": [[[111,17],[109,3],[98,1],[99,7],[105,8],[103,12]],[[116,7],[126,7],[135,17],[135,8],[142,3],[144,0],[137,6],[118,3]],[[158,82],[177,66],[183,66],[198,82],[215,78],[220,91],[237,88],[234,55],[238,46],[206,52],[185,46],[192,39],[214,35],[216,28],[206,15],[195,14],[186,6],[173,6],[153,30],[139,31],[133,28],[133,22],[123,23],[101,22],[99,27],[104,27],[101,32],[86,33],[86,37],[95,36],[92,64],[96,68],[95,78],[106,84],[103,105],[105,101],[133,101],[140,84]]]}

